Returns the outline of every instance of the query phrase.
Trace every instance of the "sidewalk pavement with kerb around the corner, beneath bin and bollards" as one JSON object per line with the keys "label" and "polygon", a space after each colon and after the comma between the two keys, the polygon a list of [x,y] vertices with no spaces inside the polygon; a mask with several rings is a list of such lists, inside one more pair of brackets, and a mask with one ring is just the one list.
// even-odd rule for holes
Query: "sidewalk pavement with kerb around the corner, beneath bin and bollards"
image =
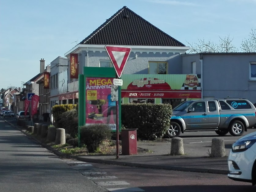
{"label": "sidewalk pavement with kerb around the corner, beneath bin and bollards", "polygon": [[[6,121],[6,120],[5,120]],[[11,124],[10,122],[6,121]],[[11,124],[13,127],[22,131],[19,127]],[[26,132],[22,131],[28,135]],[[28,135],[31,137],[30,135]],[[67,157],[65,154],[51,147],[45,146],[58,156]],[[77,159],[92,163],[116,164],[131,167],[167,169],[187,172],[205,172],[215,174],[228,174],[228,161],[226,157],[209,157],[202,148],[191,148],[189,144],[184,144],[184,155],[169,155],[171,149],[170,140],[165,142],[157,141],[137,141],[138,154],[122,155],[119,158],[116,155],[87,155],[87,156],[68,156],[68,158]],[[229,150],[226,149],[226,155]]]}

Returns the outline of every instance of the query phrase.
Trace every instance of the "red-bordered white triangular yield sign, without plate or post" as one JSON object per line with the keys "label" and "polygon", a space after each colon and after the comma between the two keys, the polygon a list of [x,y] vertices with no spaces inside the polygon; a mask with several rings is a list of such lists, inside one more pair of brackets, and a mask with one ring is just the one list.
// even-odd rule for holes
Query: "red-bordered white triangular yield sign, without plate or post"
{"label": "red-bordered white triangular yield sign, without plate or post", "polygon": [[120,78],[132,48],[106,45],[105,49],[117,72],[117,76]]}

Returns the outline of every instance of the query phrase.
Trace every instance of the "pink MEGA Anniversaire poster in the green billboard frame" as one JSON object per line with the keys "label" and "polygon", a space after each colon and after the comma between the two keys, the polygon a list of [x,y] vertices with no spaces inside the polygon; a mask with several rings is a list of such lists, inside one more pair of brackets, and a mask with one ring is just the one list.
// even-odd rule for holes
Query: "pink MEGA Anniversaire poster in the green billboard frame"
{"label": "pink MEGA Anniversaire poster in the green billboard frame", "polygon": [[116,101],[118,86],[113,85],[113,78],[87,77],[85,84],[86,124],[109,124],[116,129]]}

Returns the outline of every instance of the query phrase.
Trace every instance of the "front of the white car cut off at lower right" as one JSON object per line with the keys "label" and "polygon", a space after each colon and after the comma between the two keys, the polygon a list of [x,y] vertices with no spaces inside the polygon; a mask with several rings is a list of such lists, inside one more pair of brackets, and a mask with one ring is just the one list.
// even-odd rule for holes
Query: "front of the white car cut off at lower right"
{"label": "front of the white car cut off at lower right", "polygon": [[228,155],[228,178],[256,184],[256,132],[238,139]]}

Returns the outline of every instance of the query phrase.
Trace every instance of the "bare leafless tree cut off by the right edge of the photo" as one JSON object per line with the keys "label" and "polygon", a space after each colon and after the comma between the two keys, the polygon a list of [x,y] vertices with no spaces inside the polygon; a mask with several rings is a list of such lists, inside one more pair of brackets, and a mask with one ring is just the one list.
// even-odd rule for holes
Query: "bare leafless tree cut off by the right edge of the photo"
{"label": "bare leafless tree cut off by the right edge of the photo", "polygon": [[256,52],[256,29],[251,29],[248,39],[243,39],[240,47],[244,52]]}

